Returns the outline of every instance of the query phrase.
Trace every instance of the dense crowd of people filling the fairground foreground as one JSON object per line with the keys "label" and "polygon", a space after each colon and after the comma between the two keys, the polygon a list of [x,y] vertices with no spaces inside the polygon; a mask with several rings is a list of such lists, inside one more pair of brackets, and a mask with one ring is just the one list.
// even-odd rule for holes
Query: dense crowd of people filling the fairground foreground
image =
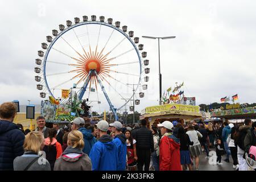
{"label": "dense crowd of people filling the fairground foreground", "polygon": [[[60,129],[46,119],[36,119],[35,131],[23,131],[13,123],[13,102],[0,105],[0,170],[19,171],[155,171],[199,170],[199,156],[210,159],[216,151],[218,165],[233,159],[234,169],[255,169],[256,122],[245,119],[240,127],[225,121],[221,126],[209,122],[147,121],[122,125],[101,120],[96,125],[75,118],[71,126]],[[195,162],[194,160],[195,159]]]}

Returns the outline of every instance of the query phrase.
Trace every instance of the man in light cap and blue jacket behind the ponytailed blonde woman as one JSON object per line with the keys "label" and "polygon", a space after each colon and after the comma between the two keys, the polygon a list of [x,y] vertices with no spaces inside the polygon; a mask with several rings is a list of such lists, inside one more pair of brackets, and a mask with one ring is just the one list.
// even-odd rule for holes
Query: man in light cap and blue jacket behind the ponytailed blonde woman
{"label": "man in light cap and blue jacket behind the ponytailed blonde woman", "polygon": [[85,122],[83,118],[75,118],[72,121],[72,130],[78,130],[82,133],[84,136],[84,149],[82,152],[89,155],[90,150],[92,149],[94,143],[97,142],[96,138],[92,135],[91,132],[88,132],[88,130],[84,127]]}

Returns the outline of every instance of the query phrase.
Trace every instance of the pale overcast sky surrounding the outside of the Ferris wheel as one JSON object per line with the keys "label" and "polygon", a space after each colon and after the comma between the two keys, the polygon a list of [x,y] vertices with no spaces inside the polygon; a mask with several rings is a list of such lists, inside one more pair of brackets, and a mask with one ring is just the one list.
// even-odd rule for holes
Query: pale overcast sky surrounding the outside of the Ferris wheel
{"label": "pale overcast sky surrounding the outside of the Ferris wheel", "polygon": [[[158,104],[157,40],[160,40],[163,92],[184,81],[196,104],[220,102],[238,94],[256,102],[255,1],[0,1],[0,103],[39,104],[34,81],[37,51],[52,29],[74,17],[104,15],[134,30],[150,60],[146,97],[135,110]],[[106,105],[102,106],[108,108]]]}

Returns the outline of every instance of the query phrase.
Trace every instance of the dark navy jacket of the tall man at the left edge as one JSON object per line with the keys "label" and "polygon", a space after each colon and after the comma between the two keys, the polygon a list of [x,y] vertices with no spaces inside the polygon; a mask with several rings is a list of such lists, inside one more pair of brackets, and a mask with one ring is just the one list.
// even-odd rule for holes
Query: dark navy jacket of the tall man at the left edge
{"label": "dark navy jacket of the tall man at the left edge", "polygon": [[24,154],[25,135],[18,126],[0,120],[0,171],[13,170],[13,160]]}

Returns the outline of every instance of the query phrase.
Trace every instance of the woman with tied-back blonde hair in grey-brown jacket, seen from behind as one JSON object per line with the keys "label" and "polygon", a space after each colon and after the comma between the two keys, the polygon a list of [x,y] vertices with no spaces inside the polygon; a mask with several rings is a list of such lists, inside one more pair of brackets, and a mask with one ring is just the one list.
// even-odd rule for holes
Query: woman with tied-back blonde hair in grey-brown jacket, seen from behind
{"label": "woman with tied-back blonde hair in grey-brown jacket, seen from behind", "polygon": [[92,163],[87,154],[82,152],[84,148],[83,135],[78,130],[68,134],[68,147],[56,160],[54,171],[92,171]]}

